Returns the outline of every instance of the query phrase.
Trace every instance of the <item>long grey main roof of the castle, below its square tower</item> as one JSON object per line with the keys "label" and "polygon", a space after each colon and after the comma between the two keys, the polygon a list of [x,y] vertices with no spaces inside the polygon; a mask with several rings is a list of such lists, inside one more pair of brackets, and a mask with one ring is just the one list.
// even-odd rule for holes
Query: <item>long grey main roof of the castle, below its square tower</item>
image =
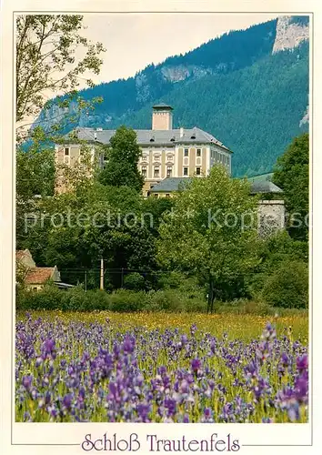
{"label": "long grey main roof of the castle, below its square tower", "polygon": [[[175,146],[178,144],[214,144],[232,153],[229,148],[215,136],[206,131],[193,127],[190,129],[135,129],[136,141],[139,146]],[[80,140],[109,144],[111,137],[116,134],[115,129],[95,129],[88,127],[78,127],[75,133]]]}

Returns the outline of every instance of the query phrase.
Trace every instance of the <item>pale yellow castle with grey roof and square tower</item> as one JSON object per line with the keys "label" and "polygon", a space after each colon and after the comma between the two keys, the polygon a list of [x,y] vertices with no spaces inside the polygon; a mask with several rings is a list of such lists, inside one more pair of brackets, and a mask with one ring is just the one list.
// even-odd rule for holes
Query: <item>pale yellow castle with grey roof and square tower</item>
{"label": "pale yellow castle with grey roof and square tower", "polygon": [[[232,152],[215,136],[197,126],[191,129],[183,127],[173,129],[173,108],[166,104],[153,106],[152,128],[136,129],[137,144],[142,149],[138,163],[140,172],[146,178],[144,194],[151,187],[169,177],[206,176],[211,167],[220,163],[231,174]],[[115,130],[103,128],[77,128],[80,140],[93,144],[109,144]],[[76,144],[55,146],[55,160],[58,164],[73,166],[80,160],[80,147]],[[98,163],[104,166],[103,157]],[[63,191],[61,187],[60,191]],[[58,189],[59,191],[59,189]]]}

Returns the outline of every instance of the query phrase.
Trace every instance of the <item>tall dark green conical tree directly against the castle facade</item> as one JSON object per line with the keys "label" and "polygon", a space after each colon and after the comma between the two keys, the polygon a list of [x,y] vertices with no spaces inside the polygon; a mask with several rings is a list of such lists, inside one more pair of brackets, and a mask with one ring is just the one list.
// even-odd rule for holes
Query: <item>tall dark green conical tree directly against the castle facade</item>
{"label": "tall dark green conical tree directly against the castle facade", "polygon": [[110,187],[131,187],[142,190],[144,177],[137,168],[141,148],[136,144],[136,132],[121,126],[110,140],[107,163],[99,181]]}

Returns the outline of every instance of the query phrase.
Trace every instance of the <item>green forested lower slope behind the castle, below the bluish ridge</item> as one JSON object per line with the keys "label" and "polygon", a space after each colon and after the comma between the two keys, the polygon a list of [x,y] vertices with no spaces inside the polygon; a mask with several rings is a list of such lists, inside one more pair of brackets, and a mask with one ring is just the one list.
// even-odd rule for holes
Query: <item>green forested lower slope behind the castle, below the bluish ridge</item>
{"label": "green forested lower slope behind the castle, below the bluish ridge", "polygon": [[[294,136],[307,108],[307,43],[267,56],[228,75],[212,75],[174,88],[162,99],[175,106],[175,125],[199,126],[234,151],[235,176],[271,171]],[[176,102],[174,102],[176,100]],[[150,127],[151,104],[124,123]]]}

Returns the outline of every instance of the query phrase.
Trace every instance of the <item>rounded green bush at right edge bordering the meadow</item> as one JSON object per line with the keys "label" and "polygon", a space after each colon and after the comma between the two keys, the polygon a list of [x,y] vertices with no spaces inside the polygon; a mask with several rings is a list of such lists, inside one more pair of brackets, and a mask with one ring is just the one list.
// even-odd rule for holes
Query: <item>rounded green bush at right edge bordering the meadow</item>
{"label": "rounded green bush at right edge bordering the meadow", "polygon": [[262,299],[272,307],[307,308],[308,267],[305,262],[284,262],[269,276]]}

